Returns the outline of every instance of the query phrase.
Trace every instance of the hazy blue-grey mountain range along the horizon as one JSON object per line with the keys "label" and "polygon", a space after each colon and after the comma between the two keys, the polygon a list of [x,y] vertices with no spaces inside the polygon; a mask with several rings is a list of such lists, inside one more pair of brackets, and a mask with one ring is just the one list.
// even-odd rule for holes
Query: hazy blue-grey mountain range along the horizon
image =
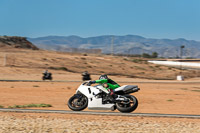
{"label": "hazy blue-grey mountain range along the horizon", "polygon": [[159,57],[179,57],[180,46],[184,45],[183,57],[200,58],[200,42],[179,39],[152,39],[138,35],[104,35],[82,38],[79,36],[46,36],[28,38],[37,47],[47,50],[69,51],[76,49],[101,49],[103,53],[111,53],[112,42],[115,54],[152,54]]}

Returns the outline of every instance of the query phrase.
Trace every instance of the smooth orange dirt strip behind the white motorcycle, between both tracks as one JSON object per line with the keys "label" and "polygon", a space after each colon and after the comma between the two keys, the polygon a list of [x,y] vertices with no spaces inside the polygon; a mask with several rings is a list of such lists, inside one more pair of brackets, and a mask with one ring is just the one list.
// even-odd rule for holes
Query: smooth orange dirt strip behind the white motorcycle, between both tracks
{"label": "smooth orange dirt strip behind the white motorcycle, between both tracks", "polygon": [[[0,105],[51,104],[69,110],[68,99],[81,82],[0,82]],[[138,85],[136,113],[200,114],[200,83],[120,83]]]}

